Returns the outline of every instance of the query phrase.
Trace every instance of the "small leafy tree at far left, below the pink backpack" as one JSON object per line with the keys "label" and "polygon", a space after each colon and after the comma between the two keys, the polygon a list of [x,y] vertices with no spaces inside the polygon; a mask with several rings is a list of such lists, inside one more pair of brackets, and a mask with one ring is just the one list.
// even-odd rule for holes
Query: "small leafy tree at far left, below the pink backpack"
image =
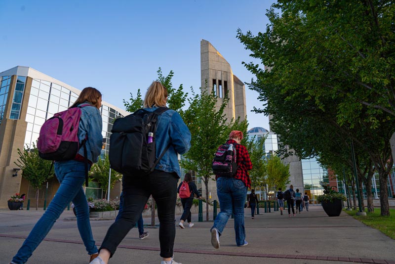
{"label": "small leafy tree at far left, below the pink backpack", "polygon": [[36,210],[38,210],[39,189],[42,183],[55,175],[52,161],[40,158],[39,150],[35,143],[33,143],[33,148],[24,148],[23,152],[18,148],[18,155],[19,159],[14,163],[21,168],[22,176],[29,180],[31,186],[36,188]]}

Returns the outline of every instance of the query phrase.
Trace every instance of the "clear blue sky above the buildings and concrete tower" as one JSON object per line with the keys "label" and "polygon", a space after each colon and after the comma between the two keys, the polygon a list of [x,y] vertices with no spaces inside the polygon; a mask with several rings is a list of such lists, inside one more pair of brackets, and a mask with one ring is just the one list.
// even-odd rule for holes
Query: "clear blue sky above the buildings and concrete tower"
{"label": "clear blue sky above the buildings and concrete tower", "polygon": [[[244,83],[254,76],[241,64],[254,61],[237,40],[264,32],[274,0],[1,0],[0,72],[29,66],[75,88],[98,88],[122,109],[135,95],[174,71],[173,87],[200,87],[200,40],[209,41]],[[268,117],[246,86],[249,128],[269,129]]]}

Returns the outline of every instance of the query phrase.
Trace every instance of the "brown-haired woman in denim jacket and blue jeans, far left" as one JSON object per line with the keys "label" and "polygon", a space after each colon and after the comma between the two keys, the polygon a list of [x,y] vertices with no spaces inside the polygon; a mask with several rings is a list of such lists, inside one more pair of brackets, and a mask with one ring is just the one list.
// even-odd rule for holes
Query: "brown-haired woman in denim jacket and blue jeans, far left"
{"label": "brown-haired woman in denim jacket and blue jeans, far left", "polygon": [[[70,202],[73,202],[76,206],[77,226],[85,249],[90,255],[91,260],[97,256],[97,248],[93,240],[89,223],[88,203],[82,184],[85,182],[86,171],[90,169],[93,163],[97,162],[102,149],[102,118],[99,111],[101,102],[101,93],[95,88],[88,87],[81,91],[77,101],[66,110],[68,113],[72,112],[75,115],[80,115],[80,118],[77,119],[77,135],[80,143],[79,146],[84,142],[84,147],[75,148],[75,153],[73,154],[75,158],[55,161],[55,175],[60,182],[59,189],[49,203],[45,213],[33,227],[18,253],[12,258],[11,264],[24,264],[28,261],[33,251],[40,245],[41,241],[48,234],[49,230],[51,230],[55,221]],[[77,107],[80,110],[75,109]],[[67,122],[64,124],[64,126],[69,125]],[[45,133],[45,131],[41,131],[40,137],[42,136],[42,132]],[[65,130],[62,132],[65,132]],[[48,133],[51,133],[51,131],[48,131]],[[40,143],[45,143],[42,141],[40,142],[40,139],[42,138],[39,138],[38,148]],[[76,146],[78,146],[78,144]],[[50,256],[48,256],[48,258],[50,258]],[[54,259],[49,262],[56,263],[56,260]]]}

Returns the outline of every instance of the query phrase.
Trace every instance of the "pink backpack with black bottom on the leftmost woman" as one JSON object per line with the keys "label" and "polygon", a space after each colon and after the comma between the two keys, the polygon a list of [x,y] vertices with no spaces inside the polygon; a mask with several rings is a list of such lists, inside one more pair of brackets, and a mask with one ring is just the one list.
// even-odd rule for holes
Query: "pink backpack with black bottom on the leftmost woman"
{"label": "pink backpack with black bottom on the leftmost woman", "polygon": [[[40,129],[37,148],[39,155],[44,160],[64,161],[76,157],[80,145],[78,139],[78,127],[81,117],[81,107],[69,108],[56,113],[46,120]],[[81,142],[81,145],[85,141]]]}

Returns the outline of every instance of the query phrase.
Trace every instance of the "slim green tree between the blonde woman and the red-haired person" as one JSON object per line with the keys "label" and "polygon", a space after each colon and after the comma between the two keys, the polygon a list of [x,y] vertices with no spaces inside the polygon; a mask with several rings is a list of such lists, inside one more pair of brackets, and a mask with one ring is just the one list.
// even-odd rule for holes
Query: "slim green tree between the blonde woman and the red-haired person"
{"label": "slim green tree between the blonde woman and the red-haired person", "polygon": [[[206,220],[208,221],[208,182],[213,180],[212,160],[218,146],[224,144],[232,130],[247,131],[247,121],[230,120],[225,118],[224,109],[229,99],[224,98],[219,110],[216,110],[217,97],[214,92],[207,93],[201,90],[189,98],[189,108],[184,113],[184,122],[187,124],[191,135],[191,149],[181,161],[187,170],[193,170],[203,180],[206,193]],[[245,142],[245,139],[243,139]],[[242,142],[242,143],[243,143]]]}

